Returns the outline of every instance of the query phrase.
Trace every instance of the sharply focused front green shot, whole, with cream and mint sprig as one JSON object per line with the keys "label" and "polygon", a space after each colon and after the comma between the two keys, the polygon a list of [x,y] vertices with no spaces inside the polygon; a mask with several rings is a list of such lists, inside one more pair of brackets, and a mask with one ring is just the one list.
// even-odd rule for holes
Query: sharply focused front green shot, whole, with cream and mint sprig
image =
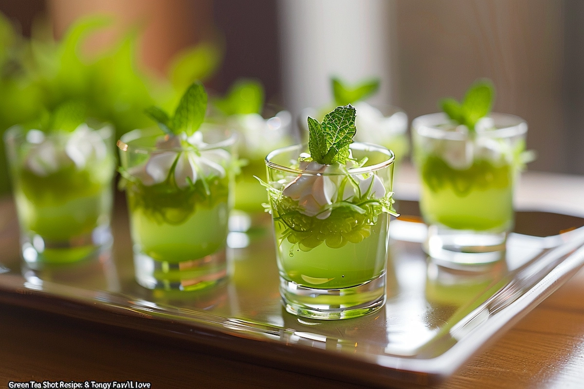
{"label": "sharply focused front green shot, whole, with cream and mint sprig", "polygon": [[355,108],[308,118],[308,145],[266,157],[280,294],[298,316],[343,319],[385,303],[394,155],[353,142]]}

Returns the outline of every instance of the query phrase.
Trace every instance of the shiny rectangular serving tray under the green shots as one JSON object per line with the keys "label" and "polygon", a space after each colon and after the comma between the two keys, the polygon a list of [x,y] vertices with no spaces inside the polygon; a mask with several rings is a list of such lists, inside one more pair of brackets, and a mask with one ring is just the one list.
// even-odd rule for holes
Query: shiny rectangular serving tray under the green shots
{"label": "shiny rectangular serving tray under the green shots", "polygon": [[[0,302],[126,328],[225,358],[376,386],[440,381],[516,323],[584,265],[584,219],[517,212],[506,260],[447,269],[429,260],[418,205],[392,220],[387,303],[341,321],[299,318],[281,306],[269,226],[230,236],[230,281],[200,292],[141,288],[126,209],[118,201],[112,253],[33,271],[20,262],[11,201],[0,202]],[[25,277],[26,276],[26,277]]]}

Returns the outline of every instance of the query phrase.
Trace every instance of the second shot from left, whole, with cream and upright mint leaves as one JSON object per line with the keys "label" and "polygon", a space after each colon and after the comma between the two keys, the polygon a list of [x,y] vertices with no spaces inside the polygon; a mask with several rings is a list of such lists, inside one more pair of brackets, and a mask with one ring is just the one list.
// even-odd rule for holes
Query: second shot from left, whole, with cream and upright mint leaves
{"label": "second shot from left, whole, with cream and upright mint leaves", "polygon": [[194,83],[172,116],[148,108],[159,129],[134,130],[117,143],[135,276],[145,288],[197,290],[228,275],[236,138],[203,124],[206,109],[204,87]]}

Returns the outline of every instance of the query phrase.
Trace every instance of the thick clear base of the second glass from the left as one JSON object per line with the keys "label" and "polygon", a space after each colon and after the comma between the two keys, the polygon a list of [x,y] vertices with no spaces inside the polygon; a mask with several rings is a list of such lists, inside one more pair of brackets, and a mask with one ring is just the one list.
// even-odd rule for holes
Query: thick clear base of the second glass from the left
{"label": "thick clear base of the second glass from the left", "polygon": [[148,289],[199,290],[224,281],[230,274],[225,249],[196,260],[158,261],[134,247],[136,281]]}

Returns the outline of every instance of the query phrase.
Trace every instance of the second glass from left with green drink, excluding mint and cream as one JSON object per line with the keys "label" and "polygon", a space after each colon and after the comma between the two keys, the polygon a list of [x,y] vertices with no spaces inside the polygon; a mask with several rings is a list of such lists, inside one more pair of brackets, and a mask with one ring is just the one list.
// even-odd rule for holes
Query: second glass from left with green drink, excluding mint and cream
{"label": "second glass from left with green drink, excluding mint and cream", "polygon": [[[204,124],[201,132],[207,144],[198,150],[184,143],[157,148],[168,135],[156,128],[128,132],[117,143],[130,213],[135,277],[145,288],[202,289],[230,273],[225,241],[233,204],[237,138],[213,125]],[[179,157],[198,161],[195,171],[199,176],[194,182],[183,180],[182,185],[169,171],[148,167],[152,160],[166,157],[172,166],[178,166]],[[210,161],[204,166],[220,166],[220,173],[201,174],[207,169],[201,161]],[[164,174],[164,180],[142,181],[144,170]]]}

